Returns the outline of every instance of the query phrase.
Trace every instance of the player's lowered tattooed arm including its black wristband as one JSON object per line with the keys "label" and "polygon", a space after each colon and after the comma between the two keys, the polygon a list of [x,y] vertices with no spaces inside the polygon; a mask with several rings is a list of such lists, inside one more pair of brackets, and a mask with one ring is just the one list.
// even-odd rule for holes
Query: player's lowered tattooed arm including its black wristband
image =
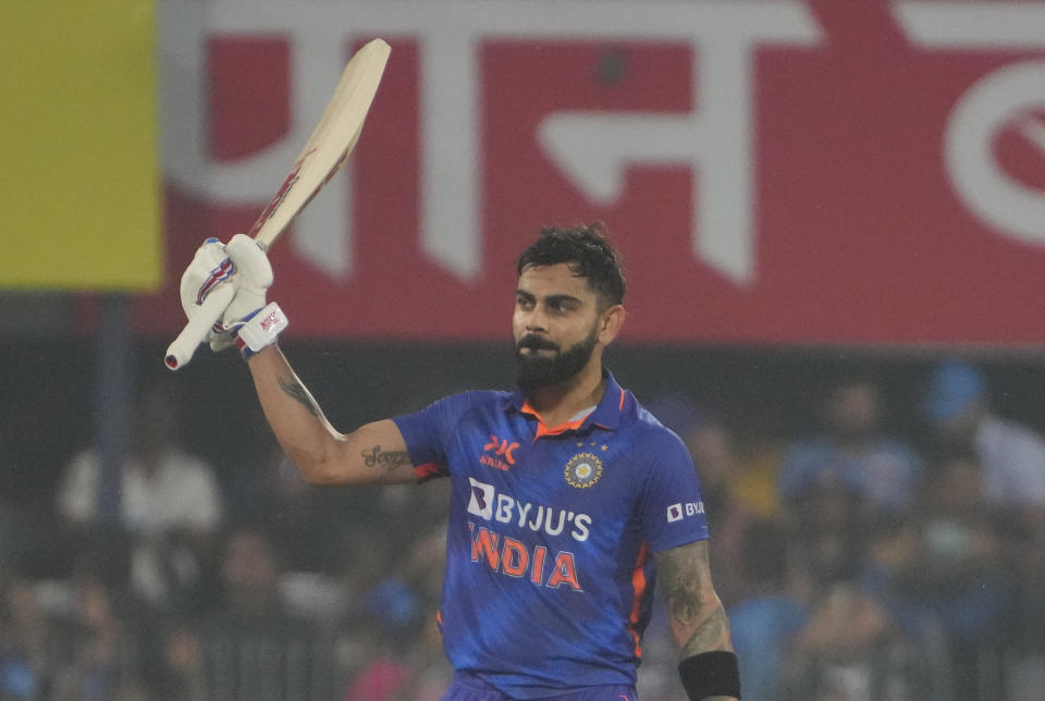
{"label": "player's lowered tattooed arm including its black wristband", "polygon": [[654,559],[687,694],[692,701],[739,699],[737,657],[729,620],[711,581],[708,541],[671,548]]}

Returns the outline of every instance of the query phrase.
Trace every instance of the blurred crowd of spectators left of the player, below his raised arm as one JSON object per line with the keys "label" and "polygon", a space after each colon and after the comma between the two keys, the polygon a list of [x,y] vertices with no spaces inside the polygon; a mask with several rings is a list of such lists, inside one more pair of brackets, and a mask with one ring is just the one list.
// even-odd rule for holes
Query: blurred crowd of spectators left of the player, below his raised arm
{"label": "blurred crowd of spectators left of the player, below his raised arm", "polygon": [[0,497],[0,700],[441,698],[448,482],[317,489],[263,425],[244,453],[265,457],[219,469],[183,440],[183,398],[164,378],[136,392],[114,500],[90,442],[25,488],[17,453],[47,448],[0,432],[0,454],[21,446]]}

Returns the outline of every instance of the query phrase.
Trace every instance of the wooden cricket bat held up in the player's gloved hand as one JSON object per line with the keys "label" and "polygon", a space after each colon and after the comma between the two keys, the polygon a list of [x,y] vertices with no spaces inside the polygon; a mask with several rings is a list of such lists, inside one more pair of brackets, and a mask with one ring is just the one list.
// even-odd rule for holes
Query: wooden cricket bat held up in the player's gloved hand
{"label": "wooden cricket bat held up in the player's gloved hand", "polygon": [[[322,189],[348,158],[378,91],[391,49],[373,39],[345,65],[337,87],[298,153],[283,185],[247,232],[266,250],[272,247],[302,209]],[[187,364],[211,327],[232,300],[232,285],[219,285],[168,347],[164,364],[177,370]]]}

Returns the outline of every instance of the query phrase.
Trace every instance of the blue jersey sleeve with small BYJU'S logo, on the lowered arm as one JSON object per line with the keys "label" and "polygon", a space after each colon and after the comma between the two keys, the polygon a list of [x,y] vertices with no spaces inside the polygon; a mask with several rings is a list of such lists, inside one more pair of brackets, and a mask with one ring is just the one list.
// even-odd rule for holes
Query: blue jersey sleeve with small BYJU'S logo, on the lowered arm
{"label": "blue jersey sleeve with small BYJU'S logo, on the lowered arm", "polygon": [[640,489],[639,518],[650,552],[708,538],[704,497],[681,439],[663,430],[651,441]]}

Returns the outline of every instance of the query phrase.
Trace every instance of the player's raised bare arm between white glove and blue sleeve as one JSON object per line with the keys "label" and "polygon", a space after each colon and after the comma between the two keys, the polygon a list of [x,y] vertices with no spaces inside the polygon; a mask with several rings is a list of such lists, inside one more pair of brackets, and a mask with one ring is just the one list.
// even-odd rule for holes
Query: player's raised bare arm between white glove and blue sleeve
{"label": "player's raised bare arm between white glove and blue sleeve", "polygon": [[396,484],[416,479],[406,442],[390,420],[341,433],[279,346],[247,359],[258,399],[286,456],[314,484]]}

